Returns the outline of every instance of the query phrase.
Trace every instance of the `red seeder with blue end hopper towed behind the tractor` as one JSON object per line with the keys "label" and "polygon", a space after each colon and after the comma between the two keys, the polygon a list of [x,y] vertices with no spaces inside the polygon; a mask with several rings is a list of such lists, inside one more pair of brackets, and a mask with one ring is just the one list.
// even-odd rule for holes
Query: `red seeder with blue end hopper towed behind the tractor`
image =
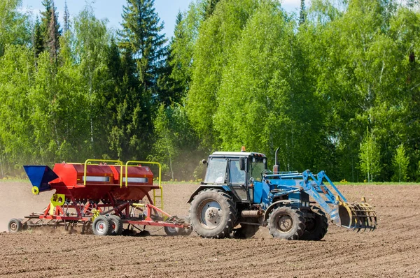
{"label": "red seeder with blue end hopper towed behind the tractor", "polygon": [[[148,166],[144,166],[148,165]],[[158,184],[149,166],[159,168]],[[188,235],[189,224],[163,211],[160,163],[88,159],[85,163],[24,166],[32,193],[55,190],[41,213],[11,219],[10,233],[40,226],[76,226],[95,235],[148,233],[146,226],[165,228],[167,235]]]}

